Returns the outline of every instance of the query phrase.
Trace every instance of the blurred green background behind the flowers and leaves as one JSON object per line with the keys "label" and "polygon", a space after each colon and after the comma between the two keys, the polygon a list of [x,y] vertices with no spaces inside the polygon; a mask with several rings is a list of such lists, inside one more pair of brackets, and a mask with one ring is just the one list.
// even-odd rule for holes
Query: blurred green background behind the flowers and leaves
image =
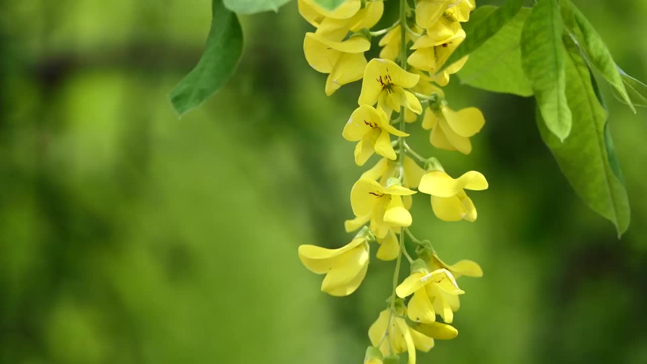
{"label": "blurred green background behind the flowers and leaves", "polygon": [[[646,80],[647,2],[576,3]],[[296,255],[351,238],[349,190],[372,165],[341,137],[360,85],[325,97],[296,1],[241,20],[236,75],[179,120],[168,93],[201,54],[210,0],[0,5],[1,363],[362,362],[393,262],[338,299]],[[467,157],[410,128],[450,174],[490,183],[471,195],[476,223],[414,196],[412,230],[485,271],[461,279],[459,337],[420,363],[647,363],[647,111],[603,91],[632,205],[622,240],[567,185],[532,99],[454,78],[452,106],[487,119]]]}

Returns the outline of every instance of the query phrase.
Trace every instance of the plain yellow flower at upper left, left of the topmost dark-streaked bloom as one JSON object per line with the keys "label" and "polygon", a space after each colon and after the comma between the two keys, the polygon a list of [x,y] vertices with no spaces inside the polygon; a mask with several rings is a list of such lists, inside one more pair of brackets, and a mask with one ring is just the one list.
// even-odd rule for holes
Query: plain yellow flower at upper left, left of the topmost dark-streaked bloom
{"label": "plain yellow flower at upper left, left of the topmost dark-streaked bloom", "polygon": [[342,85],[362,78],[366,58],[364,52],[371,42],[361,36],[345,41],[331,41],[315,33],[306,33],[303,40],[305,59],[316,71],[328,73],[325,94],[330,96]]}

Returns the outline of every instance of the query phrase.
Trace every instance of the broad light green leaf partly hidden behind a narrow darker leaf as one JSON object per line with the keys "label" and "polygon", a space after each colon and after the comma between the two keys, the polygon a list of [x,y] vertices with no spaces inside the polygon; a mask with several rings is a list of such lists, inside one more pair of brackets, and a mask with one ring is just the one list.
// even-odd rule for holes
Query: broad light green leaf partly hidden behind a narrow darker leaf
{"label": "broad light green leaf partly hidden behind a narrow darker leaf", "polygon": [[[478,24],[494,11],[496,6],[479,6],[465,25]],[[499,32],[470,54],[458,73],[461,84],[487,91],[532,96],[530,82],[521,69],[521,28],[528,14],[530,8],[521,8]]]}

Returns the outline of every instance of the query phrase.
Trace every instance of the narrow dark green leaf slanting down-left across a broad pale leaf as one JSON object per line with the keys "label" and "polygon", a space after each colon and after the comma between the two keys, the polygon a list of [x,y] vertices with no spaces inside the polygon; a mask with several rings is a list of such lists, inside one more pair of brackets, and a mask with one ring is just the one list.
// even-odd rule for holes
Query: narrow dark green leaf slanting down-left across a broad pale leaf
{"label": "narrow dark green leaf slanting down-left across a broad pale leaf", "polygon": [[485,41],[492,38],[494,34],[501,30],[521,10],[521,5],[523,5],[523,0],[508,0],[505,5],[494,10],[485,19],[476,22],[472,18],[472,21],[466,23],[466,25],[474,25],[465,27],[465,33],[467,34],[465,40],[452,53],[437,73],[440,73],[446,67],[449,67],[461,60],[461,58],[479,49]]}

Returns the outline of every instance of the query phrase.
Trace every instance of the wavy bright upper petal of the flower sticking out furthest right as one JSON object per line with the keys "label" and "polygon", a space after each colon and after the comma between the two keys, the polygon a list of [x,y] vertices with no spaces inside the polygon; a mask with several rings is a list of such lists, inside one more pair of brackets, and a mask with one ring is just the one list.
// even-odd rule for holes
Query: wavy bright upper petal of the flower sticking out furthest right
{"label": "wavy bright upper petal of the flower sticking out furthest right", "polygon": [[485,190],[488,184],[485,176],[475,170],[470,170],[456,179],[442,170],[430,170],[422,176],[418,190],[433,196],[451,197],[459,194],[463,188]]}

